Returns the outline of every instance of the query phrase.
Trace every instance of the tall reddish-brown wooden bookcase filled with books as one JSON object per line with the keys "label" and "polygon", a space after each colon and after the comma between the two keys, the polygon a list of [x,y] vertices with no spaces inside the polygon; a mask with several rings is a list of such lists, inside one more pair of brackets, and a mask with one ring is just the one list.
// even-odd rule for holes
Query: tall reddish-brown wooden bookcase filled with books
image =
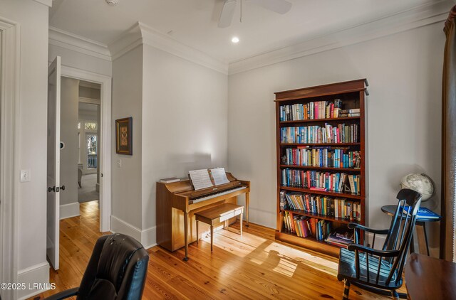
{"label": "tall reddish-brown wooden bookcase filled with books", "polygon": [[[326,255],[338,256],[340,247],[328,244],[323,240],[328,233],[333,232],[336,228],[341,227],[340,229],[343,230],[348,223],[354,221],[348,220],[348,218],[335,218],[330,215],[308,213],[305,210],[294,209],[302,207],[302,202],[299,205],[297,203],[299,203],[299,199],[302,200],[304,198],[309,202],[314,201],[312,202],[313,204],[310,204],[313,207],[312,210],[315,208],[312,205],[321,205],[322,208],[324,203],[325,208],[328,205],[328,210],[338,207],[339,215],[341,215],[341,205],[346,205],[342,206],[342,209],[345,208],[346,212],[351,213],[352,216],[356,215],[360,219],[358,223],[366,225],[365,101],[366,95],[368,95],[367,86],[367,80],[361,79],[275,93],[276,240],[306,247]],[[359,114],[359,117],[334,118],[333,115],[337,115],[335,113],[336,109],[338,114]],[[323,118],[321,118],[322,116]],[[350,142],[284,143],[282,141]],[[304,148],[303,146],[307,147]],[[313,161],[313,164],[315,161],[312,159],[316,159],[317,164],[330,164],[332,166],[338,166],[338,161],[340,161],[341,163],[343,162],[343,166],[350,167],[334,168],[293,165],[301,164],[299,161],[308,161],[307,159]],[[331,163],[328,163],[330,159]],[[353,166],[356,166],[356,168]],[[345,173],[346,176],[342,173]],[[356,188],[358,193],[318,191],[307,187],[283,186],[282,178],[286,179],[287,183],[296,183],[298,181],[299,185],[303,184],[307,187],[331,187],[332,185],[334,188],[334,183],[336,183],[336,187],[344,184],[349,186],[351,191]],[[345,201],[341,201],[343,199]],[[318,212],[320,211],[323,210],[318,208]],[[344,210],[342,211],[344,214]],[[292,232],[297,230],[296,225],[301,224],[302,226],[306,223],[309,223],[310,235],[308,237],[301,237]],[[318,226],[314,229],[314,227],[310,227],[311,223]],[[306,227],[299,228],[306,230]],[[323,240],[316,240],[316,232],[314,231],[321,233]],[[304,235],[307,234],[309,232]]]}

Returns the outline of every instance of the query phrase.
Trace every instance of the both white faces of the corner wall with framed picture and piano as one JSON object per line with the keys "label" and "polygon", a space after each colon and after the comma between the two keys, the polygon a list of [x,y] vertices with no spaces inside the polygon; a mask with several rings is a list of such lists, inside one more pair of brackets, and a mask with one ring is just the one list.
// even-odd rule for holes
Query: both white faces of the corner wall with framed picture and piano
{"label": "both white faces of the corner wall with framed picture and piano", "polygon": [[227,166],[227,83],[150,45],[113,61],[113,119],[133,117],[133,156],[113,151],[114,232],[155,245],[156,182]]}

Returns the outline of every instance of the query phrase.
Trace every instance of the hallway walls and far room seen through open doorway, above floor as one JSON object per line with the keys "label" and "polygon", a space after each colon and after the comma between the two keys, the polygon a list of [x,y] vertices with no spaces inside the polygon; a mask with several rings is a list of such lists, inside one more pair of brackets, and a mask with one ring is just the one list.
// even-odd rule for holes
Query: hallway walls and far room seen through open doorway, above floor
{"label": "hallway walls and far room seen through open doorway, above floor", "polygon": [[61,77],[60,220],[80,215],[80,203],[100,198],[101,85]]}

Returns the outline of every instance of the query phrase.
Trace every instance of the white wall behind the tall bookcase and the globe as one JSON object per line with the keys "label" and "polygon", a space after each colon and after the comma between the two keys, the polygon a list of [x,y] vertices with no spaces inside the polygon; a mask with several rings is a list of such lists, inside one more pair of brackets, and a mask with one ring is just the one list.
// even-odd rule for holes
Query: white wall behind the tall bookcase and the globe
{"label": "white wall behind the tall bookcase and the globe", "polygon": [[[252,181],[252,223],[276,227],[274,92],[282,90],[368,79],[368,225],[389,225],[380,208],[395,203],[407,173],[427,173],[440,191],[442,28],[435,23],[229,76],[228,166]],[[424,205],[440,212],[439,193]]]}

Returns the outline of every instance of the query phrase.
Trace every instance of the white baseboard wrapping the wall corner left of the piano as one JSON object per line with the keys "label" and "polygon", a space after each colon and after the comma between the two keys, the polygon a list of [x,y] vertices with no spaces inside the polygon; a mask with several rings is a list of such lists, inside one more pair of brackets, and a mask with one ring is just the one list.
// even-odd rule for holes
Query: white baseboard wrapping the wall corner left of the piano
{"label": "white baseboard wrapping the wall corner left of the piano", "polygon": [[140,242],[145,249],[149,249],[157,245],[157,227],[150,227],[146,230],[140,230],[120,218],[111,215],[111,232],[123,233],[124,235],[130,235]]}

